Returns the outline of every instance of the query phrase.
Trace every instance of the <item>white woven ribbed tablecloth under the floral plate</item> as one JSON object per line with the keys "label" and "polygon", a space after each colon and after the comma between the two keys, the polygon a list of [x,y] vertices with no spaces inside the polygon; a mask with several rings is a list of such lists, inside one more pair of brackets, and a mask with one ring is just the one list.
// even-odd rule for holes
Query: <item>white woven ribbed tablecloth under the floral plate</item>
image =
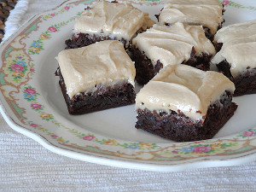
{"label": "white woven ribbed tablecloth under the floral plate", "polygon": [[[20,0],[9,17],[6,34],[32,15],[62,2]],[[73,160],[54,154],[31,138],[13,131],[0,117],[0,191],[233,192],[256,191],[255,183],[256,162],[186,172],[146,172]]]}

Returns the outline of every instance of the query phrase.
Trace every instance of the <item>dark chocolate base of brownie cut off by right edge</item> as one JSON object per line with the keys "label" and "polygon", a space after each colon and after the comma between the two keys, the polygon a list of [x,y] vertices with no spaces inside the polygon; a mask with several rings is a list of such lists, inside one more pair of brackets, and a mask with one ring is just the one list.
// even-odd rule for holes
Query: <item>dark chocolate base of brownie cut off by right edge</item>
{"label": "dark chocolate base of brownie cut off by right edge", "polygon": [[247,72],[233,78],[230,73],[230,63],[226,60],[221,61],[217,67],[221,73],[224,73],[235,84],[236,90],[234,96],[256,93],[256,68],[251,69],[247,67]]}

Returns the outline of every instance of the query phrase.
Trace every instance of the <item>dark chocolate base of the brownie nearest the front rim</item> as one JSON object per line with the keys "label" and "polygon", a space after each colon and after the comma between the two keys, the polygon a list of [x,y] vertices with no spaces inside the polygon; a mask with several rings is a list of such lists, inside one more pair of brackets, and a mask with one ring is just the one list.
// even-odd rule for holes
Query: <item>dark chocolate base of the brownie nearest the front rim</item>
{"label": "dark chocolate base of the brownie nearest the front rim", "polygon": [[190,119],[183,113],[157,113],[156,111],[137,110],[137,129],[176,142],[190,142],[212,138],[232,117],[237,105],[232,101],[230,92],[226,91],[219,102],[214,102],[207,110],[204,122]]}

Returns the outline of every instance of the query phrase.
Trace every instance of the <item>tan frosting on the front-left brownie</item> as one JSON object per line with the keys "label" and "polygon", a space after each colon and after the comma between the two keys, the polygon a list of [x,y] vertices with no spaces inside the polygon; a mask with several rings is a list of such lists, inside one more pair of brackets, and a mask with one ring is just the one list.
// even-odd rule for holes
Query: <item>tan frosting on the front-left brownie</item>
{"label": "tan frosting on the front-left brownie", "polygon": [[56,59],[70,98],[95,89],[98,84],[127,81],[134,85],[134,63],[119,41],[108,40],[78,49],[62,50]]}

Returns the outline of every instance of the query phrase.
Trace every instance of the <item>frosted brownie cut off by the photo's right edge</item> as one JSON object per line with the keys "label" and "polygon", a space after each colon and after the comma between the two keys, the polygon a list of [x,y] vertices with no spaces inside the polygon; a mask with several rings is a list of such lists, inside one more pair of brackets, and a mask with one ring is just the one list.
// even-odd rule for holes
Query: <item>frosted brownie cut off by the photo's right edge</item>
{"label": "frosted brownie cut off by the photo's right edge", "polygon": [[214,42],[212,63],[234,82],[234,96],[256,93],[256,20],[223,27]]}

